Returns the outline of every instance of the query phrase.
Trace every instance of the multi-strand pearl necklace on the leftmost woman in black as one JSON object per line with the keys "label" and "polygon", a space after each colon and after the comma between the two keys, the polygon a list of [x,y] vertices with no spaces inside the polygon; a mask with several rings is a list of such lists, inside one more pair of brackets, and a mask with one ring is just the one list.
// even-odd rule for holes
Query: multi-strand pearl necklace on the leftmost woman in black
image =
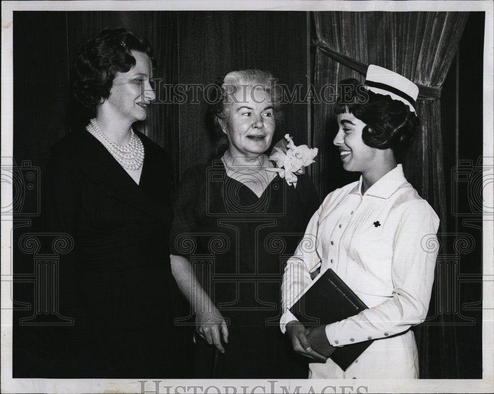
{"label": "multi-strand pearl necklace on the leftmost woman in black", "polygon": [[130,128],[130,141],[126,145],[118,145],[108,138],[99,128],[96,119],[92,118],[86,126],[89,131],[108,152],[117,160],[126,170],[138,170],[144,162],[144,145],[142,141]]}

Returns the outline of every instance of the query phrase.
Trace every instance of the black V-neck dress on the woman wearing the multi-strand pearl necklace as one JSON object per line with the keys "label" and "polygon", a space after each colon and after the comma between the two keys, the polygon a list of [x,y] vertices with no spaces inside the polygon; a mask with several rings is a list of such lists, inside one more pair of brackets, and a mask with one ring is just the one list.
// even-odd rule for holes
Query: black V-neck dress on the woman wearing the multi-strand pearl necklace
{"label": "black V-neck dress on the woman wearing the multi-strand pearl necklace", "polygon": [[51,150],[43,186],[48,232],[67,233],[60,312],[71,327],[45,329],[47,368],[60,378],[179,377],[181,295],[171,275],[172,165],[137,132],[145,158],[136,184],[87,131]]}

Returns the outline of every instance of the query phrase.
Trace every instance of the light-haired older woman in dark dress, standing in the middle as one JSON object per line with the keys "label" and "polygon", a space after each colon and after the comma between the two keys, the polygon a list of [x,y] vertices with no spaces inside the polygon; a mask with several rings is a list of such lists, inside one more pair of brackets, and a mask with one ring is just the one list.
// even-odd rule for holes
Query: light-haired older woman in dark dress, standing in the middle
{"label": "light-haired older woman in dark dress, standing in the middle", "polygon": [[172,272],[199,336],[193,377],[304,378],[307,365],[278,329],[280,288],[284,256],[319,199],[307,174],[295,188],[269,170],[281,116],[271,74],[233,71],[210,91],[227,149],[183,174],[170,237]]}

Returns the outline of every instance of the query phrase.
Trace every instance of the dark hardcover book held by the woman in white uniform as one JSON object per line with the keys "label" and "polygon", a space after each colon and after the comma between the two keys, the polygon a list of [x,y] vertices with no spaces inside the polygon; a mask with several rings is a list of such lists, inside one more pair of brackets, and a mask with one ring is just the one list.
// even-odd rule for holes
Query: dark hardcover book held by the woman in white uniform
{"label": "dark hardcover book held by the woman in white uniform", "polygon": [[[334,323],[366,309],[369,308],[357,294],[329,269],[311,283],[302,297],[290,308],[290,312],[307,327]],[[372,342],[371,340],[337,347],[330,358],[346,371]]]}

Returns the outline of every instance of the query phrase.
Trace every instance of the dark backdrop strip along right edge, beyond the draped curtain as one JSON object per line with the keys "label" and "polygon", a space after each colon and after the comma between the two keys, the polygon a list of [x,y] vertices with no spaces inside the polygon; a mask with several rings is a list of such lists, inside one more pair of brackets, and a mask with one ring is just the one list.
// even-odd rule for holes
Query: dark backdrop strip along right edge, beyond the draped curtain
{"label": "dark backdrop strip along right edge, beyond the draped curtain", "polygon": [[429,367],[432,376],[480,379],[483,373],[482,207],[492,212],[492,201],[482,201],[481,175],[485,174],[481,167],[485,19],[485,12],[469,13],[441,95],[448,242],[437,271],[449,296],[433,293],[436,303],[431,303],[428,320],[433,325],[441,323],[431,329],[444,340],[429,351],[434,354],[441,346],[452,358],[440,362],[438,356]]}

